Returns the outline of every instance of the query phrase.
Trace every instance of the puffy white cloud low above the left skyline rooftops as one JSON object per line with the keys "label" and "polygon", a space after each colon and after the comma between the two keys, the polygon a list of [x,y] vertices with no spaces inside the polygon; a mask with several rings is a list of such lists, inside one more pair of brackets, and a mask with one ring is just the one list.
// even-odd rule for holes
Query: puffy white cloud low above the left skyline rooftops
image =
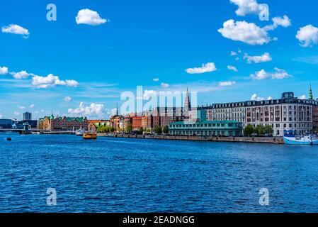
{"label": "puffy white cloud low above the left skyline rooftops", "polygon": [[101,116],[103,112],[103,104],[94,104],[92,103],[89,106],[86,106],[84,102],[79,104],[79,107],[76,109],[69,109],[68,113],[75,116]]}

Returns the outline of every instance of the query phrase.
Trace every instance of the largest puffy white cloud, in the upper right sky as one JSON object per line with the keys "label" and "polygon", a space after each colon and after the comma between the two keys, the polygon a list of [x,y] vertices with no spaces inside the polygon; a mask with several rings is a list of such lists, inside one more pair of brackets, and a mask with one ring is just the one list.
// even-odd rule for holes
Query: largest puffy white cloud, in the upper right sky
{"label": "largest puffy white cloud, in the upper right sky", "polygon": [[271,41],[265,29],[256,26],[255,23],[247,23],[246,21],[225,21],[223,28],[220,28],[218,32],[225,38],[249,45],[263,45]]}

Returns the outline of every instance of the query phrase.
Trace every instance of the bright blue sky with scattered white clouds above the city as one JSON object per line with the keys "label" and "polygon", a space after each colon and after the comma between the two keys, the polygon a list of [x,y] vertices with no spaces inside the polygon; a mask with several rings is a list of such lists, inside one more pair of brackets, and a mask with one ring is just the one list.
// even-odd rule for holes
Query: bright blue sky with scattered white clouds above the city
{"label": "bright blue sky with scattered white clouds above the city", "polygon": [[[47,21],[49,3],[57,6],[57,21]],[[259,20],[260,4],[268,4],[269,21]],[[99,21],[76,23],[83,9],[98,13]],[[198,104],[275,99],[289,91],[303,96],[310,83],[318,94],[317,9],[314,0],[6,1],[0,117],[31,111],[35,118],[107,118],[120,94],[136,86],[189,87]],[[247,34],[253,29],[254,36]],[[15,74],[23,71],[28,74]]]}

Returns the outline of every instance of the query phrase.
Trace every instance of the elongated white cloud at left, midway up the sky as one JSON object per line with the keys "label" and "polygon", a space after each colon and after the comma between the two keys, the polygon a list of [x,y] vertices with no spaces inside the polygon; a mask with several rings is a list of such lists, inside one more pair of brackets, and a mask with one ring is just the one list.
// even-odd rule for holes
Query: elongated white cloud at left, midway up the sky
{"label": "elongated white cloud at left, midway up the sky", "polygon": [[55,87],[56,85],[77,87],[79,86],[79,82],[73,79],[60,80],[59,77],[48,74],[47,77],[34,76],[32,78],[32,85],[36,88]]}

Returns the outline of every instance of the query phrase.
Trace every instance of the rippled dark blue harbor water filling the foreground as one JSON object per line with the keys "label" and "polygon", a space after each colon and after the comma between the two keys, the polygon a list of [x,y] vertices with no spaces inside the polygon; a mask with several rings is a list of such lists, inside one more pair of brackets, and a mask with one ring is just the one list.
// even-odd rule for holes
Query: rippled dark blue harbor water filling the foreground
{"label": "rippled dark blue harbor water filling the foreground", "polygon": [[318,211],[318,146],[0,133],[0,155],[0,212]]}

